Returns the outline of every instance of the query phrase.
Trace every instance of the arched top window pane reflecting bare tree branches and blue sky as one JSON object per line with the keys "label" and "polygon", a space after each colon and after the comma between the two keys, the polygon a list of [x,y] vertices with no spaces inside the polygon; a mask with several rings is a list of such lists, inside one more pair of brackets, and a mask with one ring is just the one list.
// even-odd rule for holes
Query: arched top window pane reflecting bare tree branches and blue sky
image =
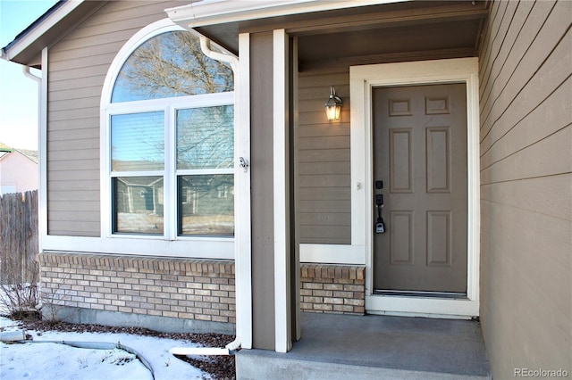
{"label": "arched top window pane reflecting bare tree branches and blue sky", "polygon": [[232,90],[227,64],[203,54],[192,33],[172,31],[150,38],[130,55],[115,81],[112,103]]}

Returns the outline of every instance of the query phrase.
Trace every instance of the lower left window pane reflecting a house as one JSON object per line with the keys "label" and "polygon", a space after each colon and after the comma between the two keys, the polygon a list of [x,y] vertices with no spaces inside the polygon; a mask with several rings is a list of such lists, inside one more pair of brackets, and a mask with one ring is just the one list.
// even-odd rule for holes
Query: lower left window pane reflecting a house
{"label": "lower left window pane reflecting a house", "polygon": [[114,232],[163,234],[162,177],[113,178]]}

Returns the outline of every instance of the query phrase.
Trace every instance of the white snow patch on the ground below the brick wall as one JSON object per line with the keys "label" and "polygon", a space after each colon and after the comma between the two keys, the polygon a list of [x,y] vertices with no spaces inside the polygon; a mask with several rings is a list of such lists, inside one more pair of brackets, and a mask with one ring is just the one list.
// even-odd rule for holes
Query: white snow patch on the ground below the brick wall
{"label": "white snow patch on the ground below the brick wall", "polygon": [[[19,330],[18,323],[0,317],[0,330]],[[113,333],[60,333],[26,331],[33,342],[122,343],[147,359],[156,380],[210,378],[206,372],[169,353],[172,347],[198,347],[197,343],[152,336]],[[74,348],[61,343],[0,343],[2,380],[147,380],[151,372],[135,357],[122,350]]]}

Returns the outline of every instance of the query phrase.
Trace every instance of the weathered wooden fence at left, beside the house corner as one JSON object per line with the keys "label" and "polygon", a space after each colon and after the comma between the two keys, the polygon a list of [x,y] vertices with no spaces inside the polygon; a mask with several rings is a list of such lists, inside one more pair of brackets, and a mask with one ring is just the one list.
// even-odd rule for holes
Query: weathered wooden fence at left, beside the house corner
{"label": "weathered wooden fence at left, beside the house corner", "polygon": [[0,284],[38,281],[38,190],[0,197]]}

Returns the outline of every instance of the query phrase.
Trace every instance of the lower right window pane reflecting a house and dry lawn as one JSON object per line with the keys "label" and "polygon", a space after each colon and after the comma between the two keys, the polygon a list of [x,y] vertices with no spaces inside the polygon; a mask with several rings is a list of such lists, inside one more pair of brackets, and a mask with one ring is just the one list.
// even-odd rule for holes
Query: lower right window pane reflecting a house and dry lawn
{"label": "lower right window pane reflecting a house and dry lawn", "polygon": [[233,235],[234,194],[231,174],[179,177],[179,235]]}

